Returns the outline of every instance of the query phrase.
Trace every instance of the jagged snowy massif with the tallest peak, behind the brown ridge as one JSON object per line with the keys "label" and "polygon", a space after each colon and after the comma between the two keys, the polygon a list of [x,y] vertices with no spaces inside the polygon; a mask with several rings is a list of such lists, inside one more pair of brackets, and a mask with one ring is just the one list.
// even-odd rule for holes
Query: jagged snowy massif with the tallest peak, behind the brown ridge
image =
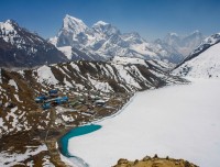
{"label": "jagged snowy massif with the tallest peak, behind the brown ridge", "polygon": [[[150,43],[138,33],[121,33],[103,21],[88,27],[81,20],[66,15],[57,36],[50,40],[68,59],[107,60],[114,56],[161,59],[176,63],[179,53],[160,43]],[[80,53],[80,54],[78,54]],[[176,58],[176,57],[177,58]]]}

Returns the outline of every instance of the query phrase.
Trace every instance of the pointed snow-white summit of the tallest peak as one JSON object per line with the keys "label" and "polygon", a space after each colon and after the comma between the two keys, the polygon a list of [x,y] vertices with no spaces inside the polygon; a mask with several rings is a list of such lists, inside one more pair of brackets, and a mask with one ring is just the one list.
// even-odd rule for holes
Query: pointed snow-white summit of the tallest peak
{"label": "pointed snow-white summit of the tallest peak", "polygon": [[64,18],[63,29],[74,31],[76,34],[79,34],[80,32],[85,32],[87,25],[80,19],[66,14]]}

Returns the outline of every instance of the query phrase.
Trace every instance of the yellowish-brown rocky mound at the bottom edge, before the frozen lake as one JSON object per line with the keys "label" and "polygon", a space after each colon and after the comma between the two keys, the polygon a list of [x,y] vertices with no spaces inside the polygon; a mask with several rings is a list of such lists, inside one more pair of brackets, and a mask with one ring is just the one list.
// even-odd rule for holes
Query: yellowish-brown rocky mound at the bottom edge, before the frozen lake
{"label": "yellowish-brown rocky mound at the bottom edge, before the frozen lake", "polygon": [[119,159],[118,164],[113,167],[198,167],[193,163],[184,159],[160,158],[157,155],[154,157],[146,156],[142,160],[129,162],[128,159]]}

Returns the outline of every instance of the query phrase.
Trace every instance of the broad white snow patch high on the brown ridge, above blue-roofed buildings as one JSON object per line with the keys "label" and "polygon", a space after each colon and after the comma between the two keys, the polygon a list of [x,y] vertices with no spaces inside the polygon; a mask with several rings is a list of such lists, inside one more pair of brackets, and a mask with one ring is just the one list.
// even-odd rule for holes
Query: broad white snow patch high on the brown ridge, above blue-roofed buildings
{"label": "broad white snow patch high on the brown ridge, above blue-roofed buildings", "polygon": [[54,77],[51,68],[48,66],[42,66],[37,69],[37,81],[38,82],[47,82],[52,85],[57,85],[58,80]]}

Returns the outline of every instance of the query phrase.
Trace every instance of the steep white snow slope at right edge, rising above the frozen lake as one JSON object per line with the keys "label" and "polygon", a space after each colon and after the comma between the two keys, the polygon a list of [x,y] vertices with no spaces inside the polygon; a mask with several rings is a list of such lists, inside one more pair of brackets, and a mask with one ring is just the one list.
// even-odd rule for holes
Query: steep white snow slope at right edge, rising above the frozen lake
{"label": "steep white snow slope at right edge, rising above the frozen lake", "polygon": [[180,63],[173,71],[175,75],[219,78],[220,77],[220,33],[213,34]]}

